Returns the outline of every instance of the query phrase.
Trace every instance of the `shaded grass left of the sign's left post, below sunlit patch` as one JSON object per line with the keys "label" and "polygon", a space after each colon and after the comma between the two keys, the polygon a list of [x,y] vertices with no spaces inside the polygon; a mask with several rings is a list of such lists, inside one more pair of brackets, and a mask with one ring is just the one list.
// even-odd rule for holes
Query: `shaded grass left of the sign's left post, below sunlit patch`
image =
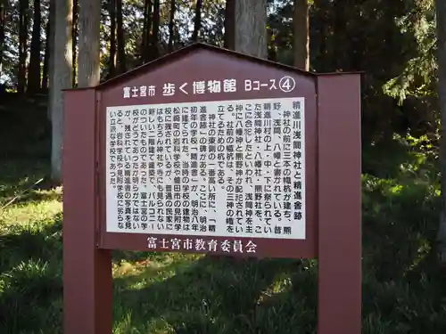
{"label": "shaded grass left of the sign's left post, below sunlit patch", "polygon": [[61,218],[1,236],[0,333],[62,332]]}

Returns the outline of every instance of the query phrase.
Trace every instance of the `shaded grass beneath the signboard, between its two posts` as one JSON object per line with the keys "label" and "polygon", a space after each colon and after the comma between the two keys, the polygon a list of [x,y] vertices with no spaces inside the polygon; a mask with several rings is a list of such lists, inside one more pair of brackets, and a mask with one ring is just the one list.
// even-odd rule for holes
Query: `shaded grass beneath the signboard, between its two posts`
{"label": "shaded grass beneath the signboard, between its two posts", "polygon": [[125,288],[152,274],[116,280],[115,315],[131,310],[132,323],[140,324],[135,332],[311,333],[315,327],[315,275],[300,261],[202,257],[165,281]]}

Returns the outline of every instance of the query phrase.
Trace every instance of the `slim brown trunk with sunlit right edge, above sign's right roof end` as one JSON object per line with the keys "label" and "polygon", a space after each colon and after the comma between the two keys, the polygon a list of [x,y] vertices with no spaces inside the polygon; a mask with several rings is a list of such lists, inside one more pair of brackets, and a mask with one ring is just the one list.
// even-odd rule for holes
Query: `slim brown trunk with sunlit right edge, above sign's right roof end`
{"label": "slim brown trunk with sunlit right edge, above sign's right roof end", "polygon": [[310,70],[309,7],[307,0],[294,0],[294,67]]}

